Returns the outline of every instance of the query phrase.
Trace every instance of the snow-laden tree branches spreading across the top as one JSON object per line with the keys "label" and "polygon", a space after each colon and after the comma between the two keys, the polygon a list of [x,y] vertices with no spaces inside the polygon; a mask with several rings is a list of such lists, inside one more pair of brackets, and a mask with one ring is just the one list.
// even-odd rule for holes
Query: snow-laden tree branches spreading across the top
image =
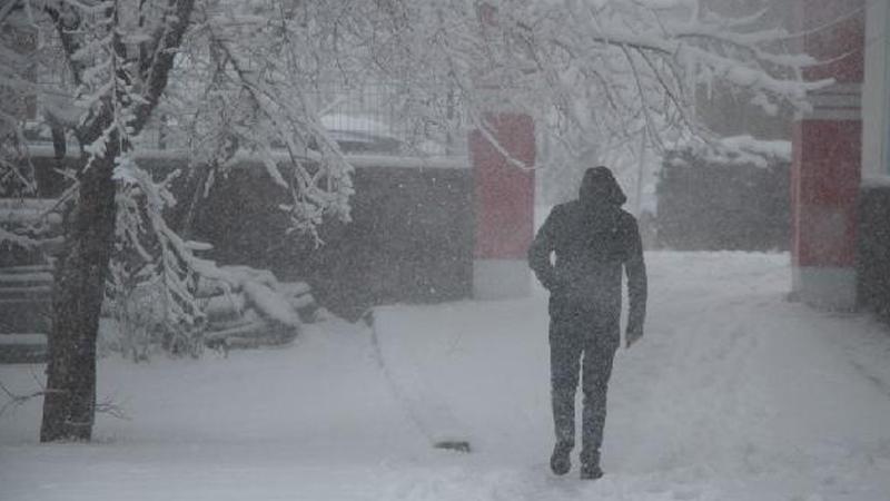
{"label": "snow-laden tree branches spreading across the top", "polygon": [[[164,222],[167,187],[132,161],[151,120],[187,148],[192,171],[170,183],[199,177],[192,204],[250,155],[287,195],[293,229],[308,234],[325,217],[349,217],[352,168],[322,115],[367,86],[387,86],[378,106],[405,130],[476,128],[496,143],[488,117],[526,114],[572,165],[636,149],[641,137],[641,150],[698,138],[759,154],[703,127],[696,92],[734,89],[769,114],[807,109],[808,92],[828,82],[802,80],[817,61],[789,50],[794,33],[762,28],[763,12],[730,17],[703,3],[11,0],[0,23],[39,36],[23,48],[0,40],[0,90],[43,104],[57,146],[80,143],[79,180],[96,165],[116,169],[119,239],[166,277],[177,314],[197,323],[189,281],[209,267]],[[38,85],[33,65],[62,78]],[[33,191],[22,109],[2,102],[0,188]]]}

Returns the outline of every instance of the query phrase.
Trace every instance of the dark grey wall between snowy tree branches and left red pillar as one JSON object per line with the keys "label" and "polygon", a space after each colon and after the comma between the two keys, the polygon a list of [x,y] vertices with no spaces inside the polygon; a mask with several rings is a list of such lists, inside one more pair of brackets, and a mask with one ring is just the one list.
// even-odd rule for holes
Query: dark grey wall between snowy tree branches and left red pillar
{"label": "dark grey wall between snowy tree branches and left red pillar", "polygon": [[[392,163],[390,163],[392,164]],[[348,224],[326,222],[324,245],[288,235],[286,194],[265,171],[239,169],[218,183],[196,217],[194,237],[220,264],[271,269],[313,285],[318,302],[347,318],[367,307],[469,298],[475,217],[466,166],[357,166]]]}

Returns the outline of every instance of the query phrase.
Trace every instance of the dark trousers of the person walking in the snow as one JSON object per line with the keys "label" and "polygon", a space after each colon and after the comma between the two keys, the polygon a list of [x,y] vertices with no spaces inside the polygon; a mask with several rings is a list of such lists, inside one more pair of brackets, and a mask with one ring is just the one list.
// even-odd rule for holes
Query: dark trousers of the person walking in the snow
{"label": "dark trousers of the person walking in the snow", "polygon": [[[555,307],[554,307],[555,306]],[[606,390],[620,344],[620,314],[551,304],[550,348],[553,422],[556,441],[575,442],[575,392],[581,372],[582,465],[600,464]],[[611,310],[611,308],[610,308]]]}

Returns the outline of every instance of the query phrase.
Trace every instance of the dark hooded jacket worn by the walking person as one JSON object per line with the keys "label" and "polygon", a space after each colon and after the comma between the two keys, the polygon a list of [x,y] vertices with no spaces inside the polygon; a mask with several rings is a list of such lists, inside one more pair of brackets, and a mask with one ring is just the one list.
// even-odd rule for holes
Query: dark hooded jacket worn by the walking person
{"label": "dark hooded jacket worn by the walking person", "polygon": [[554,207],[537,232],[528,265],[551,292],[551,316],[583,312],[620,316],[623,266],[630,301],[627,331],[642,334],[646,271],[636,219],[621,208],[626,199],[607,168],[589,168],[578,198]]}

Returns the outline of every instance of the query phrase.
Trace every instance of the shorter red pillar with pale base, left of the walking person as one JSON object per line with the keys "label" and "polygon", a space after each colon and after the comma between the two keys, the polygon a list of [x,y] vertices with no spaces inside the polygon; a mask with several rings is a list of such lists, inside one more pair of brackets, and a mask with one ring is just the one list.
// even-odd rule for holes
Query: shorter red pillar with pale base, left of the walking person
{"label": "shorter red pillar with pale base, left of the walking person", "polygon": [[[525,256],[534,236],[534,122],[518,114],[500,114],[488,122],[497,146],[479,130],[469,135],[476,214],[473,296],[517,297],[531,291]],[[530,168],[511,165],[503,151]]]}

